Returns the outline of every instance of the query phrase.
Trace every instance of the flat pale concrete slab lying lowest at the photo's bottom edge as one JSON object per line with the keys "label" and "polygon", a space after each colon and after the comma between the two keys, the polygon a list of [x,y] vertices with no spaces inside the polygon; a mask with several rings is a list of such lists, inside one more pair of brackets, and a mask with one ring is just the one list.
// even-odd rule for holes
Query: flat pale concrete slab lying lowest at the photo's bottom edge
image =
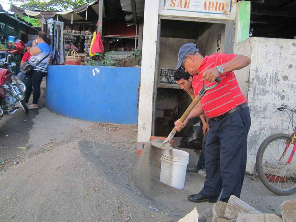
{"label": "flat pale concrete slab lying lowest at the photo's bottom edge", "polygon": [[282,218],[275,214],[245,214],[239,213],[236,222],[283,222]]}

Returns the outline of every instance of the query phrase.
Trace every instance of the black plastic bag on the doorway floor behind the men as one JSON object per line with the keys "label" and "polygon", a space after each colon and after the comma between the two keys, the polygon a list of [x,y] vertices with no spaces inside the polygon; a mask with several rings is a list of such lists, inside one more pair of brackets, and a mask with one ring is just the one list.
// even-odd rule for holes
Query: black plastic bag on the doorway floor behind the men
{"label": "black plastic bag on the doorway floor behind the men", "polygon": [[191,119],[191,126],[180,141],[180,148],[203,149],[203,123],[199,117]]}

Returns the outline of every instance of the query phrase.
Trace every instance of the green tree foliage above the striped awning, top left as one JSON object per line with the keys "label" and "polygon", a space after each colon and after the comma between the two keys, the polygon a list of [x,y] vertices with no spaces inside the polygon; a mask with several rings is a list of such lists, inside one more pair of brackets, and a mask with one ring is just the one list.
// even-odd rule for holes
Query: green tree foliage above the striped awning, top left
{"label": "green tree foliage above the striped awning, top left", "polygon": [[43,11],[65,11],[78,8],[92,0],[10,0],[10,3],[18,3],[21,8],[28,10],[43,10]]}

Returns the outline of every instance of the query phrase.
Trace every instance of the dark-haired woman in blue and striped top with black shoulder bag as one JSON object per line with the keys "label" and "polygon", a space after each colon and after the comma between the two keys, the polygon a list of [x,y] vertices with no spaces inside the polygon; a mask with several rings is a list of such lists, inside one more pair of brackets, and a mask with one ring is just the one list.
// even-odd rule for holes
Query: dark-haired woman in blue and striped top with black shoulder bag
{"label": "dark-haired woman in blue and striped top with black shoulder bag", "polygon": [[[50,38],[47,37],[46,33],[41,32],[37,39],[33,41],[30,50],[31,58],[29,63],[34,66],[34,71],[31,76],[28,76],[25,91],[25,102],[28,103],[31,93],[33,91],[33,102],[28,105],[29,109],[38,108],[38,100],[40,97],[40,85],[43,76],[46,75],[48,65],[51,60],[52,50],[50,47]],[[40,62],[40,60],[42,60]],[[39,63],[39,64],[38,64]]]}

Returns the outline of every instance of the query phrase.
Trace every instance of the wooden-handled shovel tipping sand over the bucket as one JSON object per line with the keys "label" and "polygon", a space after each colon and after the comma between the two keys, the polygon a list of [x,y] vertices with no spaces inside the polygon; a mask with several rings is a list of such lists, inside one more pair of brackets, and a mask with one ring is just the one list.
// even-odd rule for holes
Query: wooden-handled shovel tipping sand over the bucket
{"label": "wooden-handled shovel tipping sand over the bucket", "polygon": [[[216,78],[216,84],[211,86],[211,87],[206,87],[203,81],[203,88],[200,90],[199,94],[197,95],[197,97],[195,97],[195,99],[191,102],[191,104],[188,106],[188,108],[186,109],[186,111],[184,112],[184,114],[182,115],[182,117],[180,118],[180,122],[184,122],[185,119],[187,118],[187,116],[189,115],[189,113],[191,112],[191,110],[195,107],[195,105],[199,102],[199,100],[201,99],[201,97],[204,96],[204,94],[210,90],[215,88],[221,81],[221,79],[219,77]],[[174,129],[171,131],[171,133],[169,134],[169,136],[166,138],[165,141],[163,141],[162,143],[158,143],[156,141],[152,142],[152,146],[158,147],[160,149],[163,150],[172,150],[173,147],[170,146],[170,141],[172,140],[172,138],[175,136],[175,134],[177,133],[177,128],[174,127]]]}

